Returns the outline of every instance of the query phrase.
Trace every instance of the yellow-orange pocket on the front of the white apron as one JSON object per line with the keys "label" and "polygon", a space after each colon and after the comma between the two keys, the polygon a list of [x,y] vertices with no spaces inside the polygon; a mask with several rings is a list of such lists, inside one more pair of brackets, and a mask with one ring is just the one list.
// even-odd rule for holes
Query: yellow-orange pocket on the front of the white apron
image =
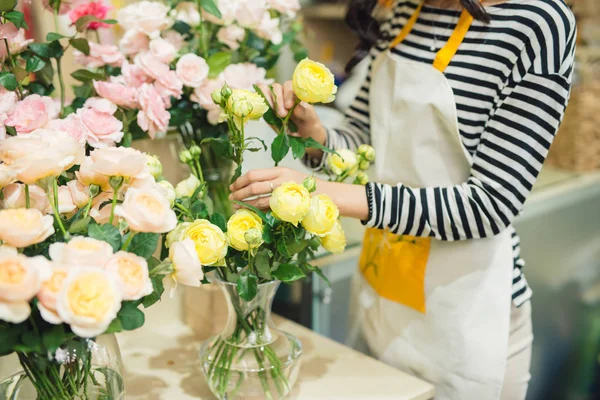
{"label": "yellow-orange pocket on the front of the white apron", "polygon": [[367,229],[360,271],[379,296],[425,313],[430,238]]}

